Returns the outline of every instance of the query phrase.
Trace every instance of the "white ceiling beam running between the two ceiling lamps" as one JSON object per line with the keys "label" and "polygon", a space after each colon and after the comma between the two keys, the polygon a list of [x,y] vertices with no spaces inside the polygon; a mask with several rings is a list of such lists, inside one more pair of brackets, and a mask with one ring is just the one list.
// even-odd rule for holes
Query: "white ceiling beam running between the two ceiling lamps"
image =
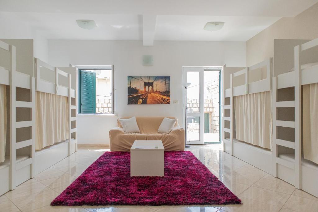
{"label": "white ceiling beam running between the two ceiling lamps", "polygon": [[144,46],[152,46],[154,44],[156,21],[157,15],[142,15]]}

